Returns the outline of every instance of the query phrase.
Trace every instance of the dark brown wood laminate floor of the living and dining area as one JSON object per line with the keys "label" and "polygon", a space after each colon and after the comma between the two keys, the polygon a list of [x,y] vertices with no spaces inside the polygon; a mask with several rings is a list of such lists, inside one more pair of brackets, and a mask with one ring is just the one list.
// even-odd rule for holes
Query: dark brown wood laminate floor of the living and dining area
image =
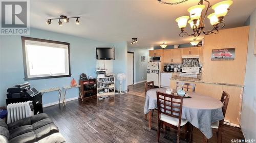
{"label": "dark brown wood laminate floor of the living and dining area", "polygon": [[[157,113],[152,129],[144,121],[145,98],[132,94],[106,99],[73,100],[67,106],[44,108],[68,142],[156,142]],[[202,142],[203,135],[194,128],[193,142]],[[225,125],[223,142],[243,138],[239,128]],[[209,142],[217,142],[216,134]],[[176,131],[163,131],[160,142],[176,142]],[[185,142],[181,139],[180,142]]]}

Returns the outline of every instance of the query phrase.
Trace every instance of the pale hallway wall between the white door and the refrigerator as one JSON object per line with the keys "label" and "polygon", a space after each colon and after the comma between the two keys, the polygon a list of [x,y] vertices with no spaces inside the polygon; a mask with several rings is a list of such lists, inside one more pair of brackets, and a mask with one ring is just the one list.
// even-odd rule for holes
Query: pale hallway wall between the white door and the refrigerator
{"label": "pale hallway wall between the white door and the refrigerator", "polygon": [[[148,50],[128,47],[128,51],[134,52],[134,82],[146,80]],[[146,57],[146,62],[141,62],[142,55]]]}

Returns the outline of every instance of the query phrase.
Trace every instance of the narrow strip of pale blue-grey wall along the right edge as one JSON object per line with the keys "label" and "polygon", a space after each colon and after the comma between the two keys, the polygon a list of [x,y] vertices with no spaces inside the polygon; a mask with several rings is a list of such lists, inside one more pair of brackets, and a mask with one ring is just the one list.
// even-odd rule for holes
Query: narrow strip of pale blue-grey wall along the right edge
{"label": "narrow strip of pale blue-grey wall along the right edge", "polygon": [[245,139],[256,139],[256,56],[253,55],[256,30],[256,9],[250,16],[247,63],[241,113],[241,128]]}

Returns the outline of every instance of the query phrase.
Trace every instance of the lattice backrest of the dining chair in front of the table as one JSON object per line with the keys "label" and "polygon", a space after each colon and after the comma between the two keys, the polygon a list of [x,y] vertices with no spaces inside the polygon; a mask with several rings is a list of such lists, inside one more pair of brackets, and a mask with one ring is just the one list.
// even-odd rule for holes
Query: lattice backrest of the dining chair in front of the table
{"label": "lattice backrest of the dining chair in front of the table", "polygon": [[182,104],[183,97],[157,91],[157,112],[159,119],[160,114],[163,113],[167,116],[178,118],[180,126]]}

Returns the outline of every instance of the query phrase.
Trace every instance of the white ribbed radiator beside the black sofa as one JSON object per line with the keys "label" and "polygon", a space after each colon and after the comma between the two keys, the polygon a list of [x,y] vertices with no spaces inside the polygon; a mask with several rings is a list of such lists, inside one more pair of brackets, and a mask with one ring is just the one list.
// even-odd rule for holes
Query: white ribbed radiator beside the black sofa
{"label": "white ribbed radiator beside the black sofa", "polygon": [[33,102],[19,102],[7,105],[7,124],[34,115]]}

